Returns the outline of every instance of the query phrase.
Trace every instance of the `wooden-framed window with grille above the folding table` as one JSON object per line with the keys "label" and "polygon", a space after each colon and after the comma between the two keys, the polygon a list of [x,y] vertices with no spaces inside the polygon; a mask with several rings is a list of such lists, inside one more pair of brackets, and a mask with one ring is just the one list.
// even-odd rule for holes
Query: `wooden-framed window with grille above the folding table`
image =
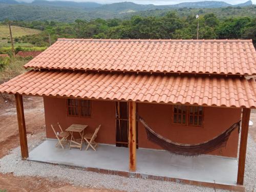
{"label": "wooden-framed window with grille above the folding table", "polygon": [[90,117],[91,101],[84,99],[67,99],[68,116]]}

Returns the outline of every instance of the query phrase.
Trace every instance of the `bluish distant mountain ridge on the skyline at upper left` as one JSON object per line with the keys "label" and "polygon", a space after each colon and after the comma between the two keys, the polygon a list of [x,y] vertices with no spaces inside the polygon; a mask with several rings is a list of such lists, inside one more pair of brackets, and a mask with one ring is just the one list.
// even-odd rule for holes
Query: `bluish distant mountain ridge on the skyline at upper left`
{"label": "bluish distant mountain ridge on the skyline at upper left", "polygon": [[[0,0],[3,1],[3,0]],[[5,1],[5,0],[4,0]],[[66,1],[45,1],[45,0],[34,0],[31,5],[42,5],[42,6],[54,6],[54,7],[75,7],[75,8],[96,8],[102,6],[101,4],[94,2],[66,2]]]}

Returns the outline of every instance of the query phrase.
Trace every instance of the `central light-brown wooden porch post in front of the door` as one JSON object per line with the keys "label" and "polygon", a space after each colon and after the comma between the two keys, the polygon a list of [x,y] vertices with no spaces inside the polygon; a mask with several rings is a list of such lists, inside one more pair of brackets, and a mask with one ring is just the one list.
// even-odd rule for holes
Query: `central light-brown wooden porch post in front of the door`
{"label": "central light-brown wooden porch post in front of the door", "polygon": [[136,171],[136,102],[129,101],[129,168]]}

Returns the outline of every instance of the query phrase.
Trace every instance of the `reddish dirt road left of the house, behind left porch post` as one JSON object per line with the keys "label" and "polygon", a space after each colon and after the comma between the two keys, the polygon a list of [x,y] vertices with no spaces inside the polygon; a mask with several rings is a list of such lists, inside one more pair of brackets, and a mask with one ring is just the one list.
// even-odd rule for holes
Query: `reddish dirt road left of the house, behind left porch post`
{"label": "reddish dirt road left of the house, behind left porch post", "polygon": [[[19,145],[16,108],[13,95],[4,95],[0,103],[0,158]],[[28,140],[34,133],[45,131],[44,104],[41,97],[24,97]]]}

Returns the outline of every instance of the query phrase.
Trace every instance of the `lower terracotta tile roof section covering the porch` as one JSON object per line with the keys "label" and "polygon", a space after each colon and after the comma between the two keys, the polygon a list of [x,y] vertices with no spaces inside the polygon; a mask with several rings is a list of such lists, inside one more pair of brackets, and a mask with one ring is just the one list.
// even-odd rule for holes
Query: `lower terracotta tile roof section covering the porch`
{"label": "lower terracotta tile roof section covering the porch", "polygon": [[31,70],[1,93],[256,108],[256,82],[230,77]]}

